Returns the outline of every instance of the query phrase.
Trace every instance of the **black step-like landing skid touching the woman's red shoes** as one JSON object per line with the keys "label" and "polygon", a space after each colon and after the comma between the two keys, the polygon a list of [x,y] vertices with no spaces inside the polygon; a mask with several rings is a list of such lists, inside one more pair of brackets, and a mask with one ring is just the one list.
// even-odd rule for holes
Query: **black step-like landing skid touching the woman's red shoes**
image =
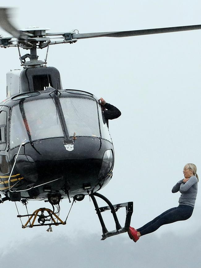
{"label": "black step-like landing skid touching the woman's red shoes", "polygon": [[[108,206],[98,207],[95,196],[103,199],[108,204]],[[131,216],[133,213],[133,202],[112,205],[112,203],[102,194],[92,193],[92,194],[90,194],[90,197],[92,198],[96,213],[98,215],[98,218],[99,218],[101,226],[102,226],[103,234],[102,234],[101,240],[105,240],[106,238],[108,238],[110,236],[115,236],[115,235],[118,235],[121,233],[128,232],[129,227],[130,227]],[[125,225],[123,228],[121,227],[121,225],[118,221],[117,215],[116,215],[116,211],[118,211],[118,209],[120,209],[121,207],[126,208],[126,221],[125,221]],[[114,218],[114,221],[116,224],[116,230],[113,230],[113,231],[107,230],[105,223],[104,223],[104,220],[103,220],[102,215],[101,215],[101,212],[104,212],[106,210],[111,210],[111,213],[113,215],[113,218]]]}

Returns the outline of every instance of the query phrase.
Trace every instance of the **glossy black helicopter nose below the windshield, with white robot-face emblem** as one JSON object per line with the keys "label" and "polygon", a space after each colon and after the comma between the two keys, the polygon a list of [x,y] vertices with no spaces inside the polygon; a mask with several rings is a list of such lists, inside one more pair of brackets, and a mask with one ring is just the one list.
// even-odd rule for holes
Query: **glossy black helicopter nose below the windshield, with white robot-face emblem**
{"label": "glossy black helicopter nose below the windshield, with white robot-face emblem", "polygon": [[[66,146],[63,138],[51,138],[40,142],[27,143],[25,154],[19,154],[16,168],[28,181],[51,181],[67,176],[71,181],[103,179],[112,166],[113,155],[108,164],[108,149],[112,145],[99,138],[79,137],[74,144]],[[107,151],[107,153],[105,153]],[[104,164],[103,164],[104,162]]]}

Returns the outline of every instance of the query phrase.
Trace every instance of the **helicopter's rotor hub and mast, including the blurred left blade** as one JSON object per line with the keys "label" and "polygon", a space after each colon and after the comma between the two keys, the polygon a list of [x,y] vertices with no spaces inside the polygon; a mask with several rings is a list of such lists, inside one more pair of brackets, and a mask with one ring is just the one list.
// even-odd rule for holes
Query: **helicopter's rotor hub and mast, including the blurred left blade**
{"label": "helicopter's rotor hub and mast, including the blurred left blade", "polygon": [[[37,49],[43,49],[45,47],[49,49],[49,45],[75,43],[77,41],[76,38],[72,37],[73,34],[76,34],[75,31],[46,33],[46,31],[50,30],[49,28],[39,28],[36,26],[17,30],[10,22],[8,9],[6,8],[0,8],[0,25],[3,25],[2,28],[4,28],[4,30],[13,34],[13,36],[0,36],[0,47],[18,47],[18,51],[19,48],[30,49],[30,54],[26,53],[22,57],[19,51],[21,66],[24,66],[24,68],[40,67],[41,65],[46,64],[48,50],[45,61],[40,61],[38,60]],[[51,39],[54,40],[51,41]],[[26,62],[27,58],[29,58],[30,61]]]}

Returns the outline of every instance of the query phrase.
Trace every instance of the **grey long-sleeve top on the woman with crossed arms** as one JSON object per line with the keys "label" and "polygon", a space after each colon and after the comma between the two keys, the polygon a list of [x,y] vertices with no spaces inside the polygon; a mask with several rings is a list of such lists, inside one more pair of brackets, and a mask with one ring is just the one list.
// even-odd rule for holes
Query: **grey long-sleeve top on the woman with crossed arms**
{"label": "grey long-sleeve top on the woman with crossed arms", "polygon": [[183,179],[178,181],[173,186],[172,193],[181,193],[179,198],[179,205],[195,206],[195,200],[198,192],[198,179],[195,176],[191,176],[186,183],[183,183]]}

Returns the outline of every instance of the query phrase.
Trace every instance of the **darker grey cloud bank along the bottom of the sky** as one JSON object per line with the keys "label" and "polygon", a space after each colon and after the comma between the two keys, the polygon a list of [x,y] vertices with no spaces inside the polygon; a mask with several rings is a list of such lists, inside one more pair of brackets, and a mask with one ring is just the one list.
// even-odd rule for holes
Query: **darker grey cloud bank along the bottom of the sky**
{"label": "darker grey cloud bank along the bottom of the sky", "polygon": [[[167,232],[144,237],[137,243],[128,241],[126,234],[120,239],[100,241],[96,234],[80,233],[74,239],[68,235],[34,237],[4,250],[1,266],[10,268],[10,259],[15,267],[138,267],[138,268],[199,268],[201,262],[201,229],[184,236]],[[139,244],[138,244],[139,243]]]}

